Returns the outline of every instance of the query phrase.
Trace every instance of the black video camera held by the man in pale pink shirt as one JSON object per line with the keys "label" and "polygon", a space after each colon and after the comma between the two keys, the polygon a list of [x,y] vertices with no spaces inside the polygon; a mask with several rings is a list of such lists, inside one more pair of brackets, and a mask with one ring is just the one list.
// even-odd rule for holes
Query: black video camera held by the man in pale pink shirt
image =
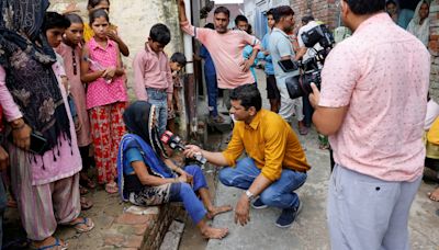
{"label": "black video camera held by the man in pale pink shirt", "polygon": [[[286,79],[285,84],[291,99],[308,95],[313,92],[311,83],[314,82],[318,89],[322,83],[322,68],[330,49],[333,49],[335,41],[333,33],[325,24],[313,27],[302,34],[302,41],[308,49],[314,49],[315,55],[309,59],[295,63],[296,68],[302,69],[299,76]],[[319,44],[322,49],[316,50],[314,46]]]}

